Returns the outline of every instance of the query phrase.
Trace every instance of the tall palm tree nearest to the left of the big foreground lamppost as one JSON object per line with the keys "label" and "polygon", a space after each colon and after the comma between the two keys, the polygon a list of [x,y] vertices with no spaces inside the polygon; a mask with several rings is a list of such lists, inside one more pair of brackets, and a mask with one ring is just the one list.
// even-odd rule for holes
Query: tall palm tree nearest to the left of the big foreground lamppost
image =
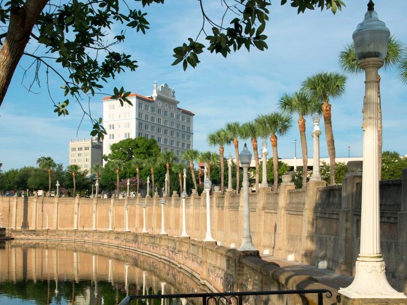
{"label": "tall palm tree nearest to the left of the big foreground lamppost", "polygon": [[338,98],[345,92],[346,76],[335,72],[322,72],[308,77],[302,83],[312,99],[322,102],[325,137],[327,139],[331,185],[335,184],[335,141],[332,132],[331,98]]}

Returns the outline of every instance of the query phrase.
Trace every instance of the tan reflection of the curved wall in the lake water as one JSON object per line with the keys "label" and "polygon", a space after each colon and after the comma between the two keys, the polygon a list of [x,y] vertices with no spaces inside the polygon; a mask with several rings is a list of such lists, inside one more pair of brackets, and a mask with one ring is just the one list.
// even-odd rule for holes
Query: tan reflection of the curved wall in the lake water
{"label": "tan reflection of the curved wall in the lake water", "polygon": [[[171,293],[203,291],[180,269],[134,252],[85,244],[8,241],[0,247],[0,282],[38,281],[42,279],[108,281],[112,286],[140,287],[146,270],[161,281]],[[144,270],[144,271],[143,271]],[[144,279],[145,282],[145,279]],[[161,282],[153,278],[152,292],[161,291]],[[177,289],[175,289],[176,287]],[[146,287],[147,289],[150,287]],[[176,292],[177,291],[177,292]]]}

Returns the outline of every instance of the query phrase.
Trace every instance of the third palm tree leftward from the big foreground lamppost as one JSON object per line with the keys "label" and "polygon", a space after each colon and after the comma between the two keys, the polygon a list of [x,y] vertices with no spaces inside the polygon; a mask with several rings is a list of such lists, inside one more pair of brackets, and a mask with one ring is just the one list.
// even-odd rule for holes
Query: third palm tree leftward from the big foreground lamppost
{"label": "third palm tree leftward from the big foreground lamppost", "polygon": [[255,119],[260,126],[261,136],[266,137],[267,135],[270,135],[270,142],[273,147],[274,191],[277,191],[278,187],[277,136],[283,136],[289,131],[292,126],[292,120],[293,118],[290,115],[277,111],[258,115]]}

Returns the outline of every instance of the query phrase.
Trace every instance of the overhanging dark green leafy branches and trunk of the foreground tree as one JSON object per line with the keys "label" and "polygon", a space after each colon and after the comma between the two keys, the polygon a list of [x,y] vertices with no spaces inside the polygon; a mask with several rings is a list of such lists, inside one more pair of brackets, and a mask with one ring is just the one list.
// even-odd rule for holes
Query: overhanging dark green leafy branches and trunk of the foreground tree
{"label": "overhanging dark green leafy branches and trunk of the foreground tree", "polygon": [[[134,0],[127,4],[119,0],[68,0],[52,3],[47,0],[12,0],[0,4],[0,106],[3,103],[9,84],[22,56],[33,59],[28,68],[35,69],[35,77],[28,89],[40,83],[40,67],[45,67],[48,77],[60,77],[62,89],[68,98],[54,101],[50,97],[58,115],[68,114],[70,100],[77,101],[83,115],[93,123],[91,135],[103,138],[106,134],[102,119],[93,118],[86,102],[97,93],[103,93],[103,83],[115,75],[137,68],[136,60],[129,54],[117,52],[114,46],[125,41],[126,35],[134,32],[146,33],[149,22],[147,13],[138,9],[153,3],[164,4],[164,0]],[[281,5],[287,3],[282,0]],[[318,7],[330,9],[333,13],[341,10],[341,0],[290,0],[288,3],[298,9]],[[207,15],[205,2],[198,1],[202,13],[201,28],[197,28],[196,38],[188,38],[187,43],[174,49],[173,65],[182,63],[184,70],[199,63],[198,54],[204,48],[211,53],[226,57],[232,50],[242,46],[247,50],[253,46],[259,50],[268,48],[264,35],[269,20],[270,0],[221,0],[224,13],[220,20]],[[108,42],[111,27],[120,27],[120,34]],[[129,33],[126,33],[126,29]],[[207,40],[207,45],[205,45]],[[28,42],[31,47],[26,48]],[[61,70],[60,68],[64,68]],[[65,71],[65,72],[61,72]],[[130,93],[122,88],[114,88],[112,99],[123,105],[130,103]]]}

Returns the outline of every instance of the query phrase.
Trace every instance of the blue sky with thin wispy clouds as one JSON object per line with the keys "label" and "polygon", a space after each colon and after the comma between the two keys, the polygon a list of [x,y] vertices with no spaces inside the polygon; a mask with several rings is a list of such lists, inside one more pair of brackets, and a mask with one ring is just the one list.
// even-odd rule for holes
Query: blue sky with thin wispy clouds
{"label": "blue sky with thin wispy clouds", "polygon": [[[164,5],[153,5],[145,9],[151,26],[146,35],[128,30],[125,44],[115,47],[116,51],[131,54],[139,67],[134,72],[126,71],[109,80],[103,93],[110,94],[114,86],[124,86],[133,93],[150,96],[155,81],[159,85],[167,83],[175,88],[179,107],[195,113],[193,148],[217,151],[218,147],[208,144],[210,132],[223,128],[228,122],[245,123],[259,114],[277,110],[278,100],[285,93],[298,90],[301,82],[309,76],[324,71],[341,72],[338,55],[346,44],[352,42],[352,33],[363,21],[367,2],[345,0],[346,7],[336,15],[319,9],[298,15],[297,9],[272,1],[270,20],[264,32],[268,36],[266,51],[252,48],[247,52],[242,48],[227,58],[206,51],[199,55],[201,63],[185,72],[181,65],[171,66],[172,50],[198,34],[202,23],[198,2],[171,0]],[[220,15],[220,1],[203,3],[209,15],[214,18]],[[391,34],[407,44],[407,1],[376,0],[374,9]],[[118,32],[119,28],[113,26],[111,37]],[[27,46],[29,49],[35,47],[34,44]],[[37,159],[42,156],[51,157],[66,167],[69,141],[90,138],[92,125],[89,118],[82,120],[77,103],[70,103],[68,116],[58,117],[53,112],[43,67],[39,74],[40,85],[35,83],[31,92],[28,90],[33,73],[24,74],[24,71],[31,64],[30,58],[21,59],[0,106],[0,163],[3,163],[3,171],[36,166]],[[403,139],[407,134],[407,85],[400,82],[395,68],[381,69],[379,73],[382,77],[383,149],[406,155],[407,141]],[[364,75],[346,75],[344,95],[330,101],[336,156],[347,157],[350,147],[351,157],[360,157]],[[49,74],[50,93],[56,103],[65,99],[60,89],[62,85],[60,79]],[[102,116],[101,99],[105,96],[98,94],[90,99],[93,117]],[[88,107],[86,101],[84,104]],[[312,118],[306,119],[308,156],[312,157]],[[294,140],[298,140],[297,149]],[[290,132],[278,139],[279,157],[294,158],[297,154],[301,158],[299,140],[295,117]],[[321,157],[327,157],[324,131],[320,143]],[[251,145],[248,146],[251,149]],[[243,141],[240,142],[240,150],[242,148]],[[270,141],[268,149],[271,151]],[[229,153],[234,156],[234,148],[226,146],[225,155]]]}

